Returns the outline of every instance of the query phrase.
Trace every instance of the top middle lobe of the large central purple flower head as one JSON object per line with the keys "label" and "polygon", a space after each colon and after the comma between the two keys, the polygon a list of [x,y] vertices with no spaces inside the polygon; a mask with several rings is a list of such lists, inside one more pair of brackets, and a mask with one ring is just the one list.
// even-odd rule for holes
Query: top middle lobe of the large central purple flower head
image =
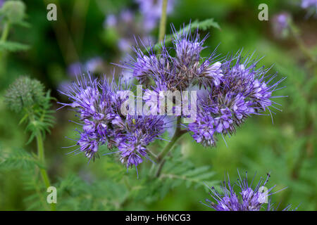
{"label": "top middle lobe of the large central purple flower head", "polygon": [[205,60],[201,57],[206,37],[200,39],[198,30],[192,34],[190,26],[177,32],[172,25],[172,30],[175,56],[164,44],[160,54],[154,51],[154,46],[144,53],[144,46],[138,45],[134,49],[136,57],[120,66],[130,70],[142,84],[154,83],[154,89],[164,86],[169,91],[185,91],[195,84],[219,84],[223,74],[215,51]]}

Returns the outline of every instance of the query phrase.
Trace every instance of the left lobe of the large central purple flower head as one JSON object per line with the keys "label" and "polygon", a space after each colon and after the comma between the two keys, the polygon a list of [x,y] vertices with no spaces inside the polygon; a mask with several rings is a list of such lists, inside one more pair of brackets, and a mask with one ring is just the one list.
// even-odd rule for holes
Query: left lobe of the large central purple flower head
{"label": "left lobe of the large central purple flower head", "polygon": [[98,156],[98,148],[106,144],[109,150],[118,148],[120,161],[127,167],[139,165],[147,158],[147,146],[165,131],[163,117],[146,115],[123,115],[122,104],[130,94],[130,87],[81,76],[77,82],[62,92],[75,108],[82,122],[82,131],[75,153],[85,153],[90,159]]}

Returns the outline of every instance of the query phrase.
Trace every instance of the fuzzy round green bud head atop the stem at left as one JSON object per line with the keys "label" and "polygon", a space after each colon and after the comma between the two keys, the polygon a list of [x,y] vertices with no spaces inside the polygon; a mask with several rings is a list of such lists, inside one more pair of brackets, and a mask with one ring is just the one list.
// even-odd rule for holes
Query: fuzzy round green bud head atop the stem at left
{"label": "fuzzy round green bud head atop the stem at left", "polygon": [[19,77],[11,84],[5,94],[5,103],[16,113],[24,108],[30,109],[45,102],[44,85],[30,77]]}

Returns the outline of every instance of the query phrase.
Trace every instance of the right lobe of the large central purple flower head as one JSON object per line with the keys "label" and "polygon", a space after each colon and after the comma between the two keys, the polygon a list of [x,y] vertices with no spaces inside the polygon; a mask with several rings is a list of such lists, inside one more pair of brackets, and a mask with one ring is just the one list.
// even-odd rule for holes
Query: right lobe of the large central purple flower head
{"label": "right lobe of the large central purple flower head", "polygon": [[219,64],[221,79],[217,85],[205,83],[208,94],[198,98],[197,120],[188,124],[197,143],[216,146],[214,135],[235,134],[236,127],[247,117],[271,113],[269,107],[275,108],[272,94],[282,80],[273,82],[276,75],[267,75],[268,69],[256,69],[257,63],[251,56],[243,58],[239,52]]}

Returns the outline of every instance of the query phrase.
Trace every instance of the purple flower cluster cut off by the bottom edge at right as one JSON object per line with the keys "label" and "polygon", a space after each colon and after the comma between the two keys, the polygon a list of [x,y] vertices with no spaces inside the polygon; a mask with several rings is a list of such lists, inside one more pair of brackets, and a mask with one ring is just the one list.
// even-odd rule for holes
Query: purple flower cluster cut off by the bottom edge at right
{"label": "purple flower cluster cut off by the bottom edge at right", "polygon": [[[266,188],[268,178],[270,177],[269,174],[267,175],[266,179],[261,177],[259,183],[256,184],[256,186],[253,186],[254,179],[252,179],[251,184],[249,184],[247,180],[247,172],[244,179],[241,178],[239,172],[238,174],[239,179],[237,179],[237,183],[233,185],[230,183],[229,176],[228,181],[223,181],[223,184],[221,185],[221,193],[216,191],[216,188],[214,187],[209,188],[211,191],[209,194],[216,201],[216,203],[206,199],[207,204],[203,204],[213,208],[216,211],[259,211],[261,209],[268,211],[277,210],[277,207],[273,207],[271,198],[269,199],[269,197],[274,194],[272,193],[272,189],[275,186]],[[237,190],[235,191],[235,189]],[[268,205],[264,207],[263,204],[266,203]],[[288,205],[284,210],[290,210],[290,207],[291,205]]]}

